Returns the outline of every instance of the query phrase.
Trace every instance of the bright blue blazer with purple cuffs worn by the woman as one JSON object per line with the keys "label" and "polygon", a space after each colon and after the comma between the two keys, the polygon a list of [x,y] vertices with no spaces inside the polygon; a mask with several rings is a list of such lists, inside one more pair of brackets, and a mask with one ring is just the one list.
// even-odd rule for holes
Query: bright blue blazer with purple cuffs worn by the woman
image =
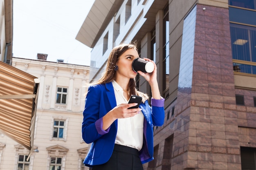
{"label": "bright blue blazer with purple cuffs worn by the woman", "polygon": [[[151,99],[140,104],[144,119],[144,141],[139,155],[142,163],[153,160],[153,126],[164,124],[164,99]],[[153,106],[158,105],[158,106]],[[117,106],[112,82],[92,85],[88,88],[83,111],[82,136],[87,144],[91,144],[85,157],[85,166],[92,167],[106,163],[113,152],[117,135],[117,120],[107,130],[102,129],[102,117]]]}

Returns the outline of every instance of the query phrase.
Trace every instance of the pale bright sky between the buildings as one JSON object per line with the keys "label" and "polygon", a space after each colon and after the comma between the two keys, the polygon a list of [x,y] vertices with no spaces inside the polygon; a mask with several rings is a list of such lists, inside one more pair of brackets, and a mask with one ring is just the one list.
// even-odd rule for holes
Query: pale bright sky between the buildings
{"label": "pale bright sky between the buildings", "polygon": [[90,66],[91,48],[78,40],[94,0],[13,0],[13,57]]}

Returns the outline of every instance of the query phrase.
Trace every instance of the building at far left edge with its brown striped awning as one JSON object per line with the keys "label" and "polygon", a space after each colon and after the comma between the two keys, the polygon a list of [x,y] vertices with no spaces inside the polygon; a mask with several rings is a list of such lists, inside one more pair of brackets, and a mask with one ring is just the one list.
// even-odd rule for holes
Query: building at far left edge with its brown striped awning
{"label": "building at far left edge with its brown striped awning", "polygon": [[[27,148],[30,155],[39,79],[11,66],[13,1],[0,0],[0,7],[0,133]],[[4,147],[1,143],[0,163]]]}

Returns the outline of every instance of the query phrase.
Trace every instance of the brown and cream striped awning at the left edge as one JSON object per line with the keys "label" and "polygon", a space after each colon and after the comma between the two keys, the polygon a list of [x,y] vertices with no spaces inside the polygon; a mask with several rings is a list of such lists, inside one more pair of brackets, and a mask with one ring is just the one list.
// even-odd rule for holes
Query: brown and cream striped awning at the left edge
{"label": "brown and cream striped awning at the left edge", "polygon": [[0,130],[33,151],[39,79],[0,61]]}

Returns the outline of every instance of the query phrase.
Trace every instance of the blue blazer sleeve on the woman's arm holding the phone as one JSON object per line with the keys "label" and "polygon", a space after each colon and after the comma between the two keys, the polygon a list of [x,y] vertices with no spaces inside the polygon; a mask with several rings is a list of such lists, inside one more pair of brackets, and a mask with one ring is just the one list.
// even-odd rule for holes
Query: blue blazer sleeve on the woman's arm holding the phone
{"label": "blue blazer sleeve on the woman's arm holding the phone", "polygon": [[85,109],[83,111],[82,137],[90,144],[108,133],[102,129],[102,117],[99,117],[102,89],[97,86],[90,86],[85,97]]}

